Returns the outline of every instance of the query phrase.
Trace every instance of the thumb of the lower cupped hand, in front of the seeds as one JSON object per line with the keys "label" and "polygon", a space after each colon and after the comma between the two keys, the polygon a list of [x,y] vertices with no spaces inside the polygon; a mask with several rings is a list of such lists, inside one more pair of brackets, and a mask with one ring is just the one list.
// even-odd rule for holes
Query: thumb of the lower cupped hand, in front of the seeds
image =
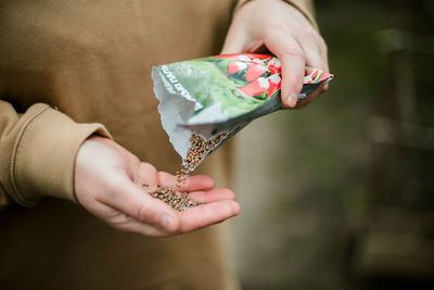
{"label": "thumb of the lower cupped hand, in front of the seeds", "polygon": [[136,218],[158,227],[167,232],[178,229],[179,220],[175,211],[163,201],[150,197],[138,185],[126,180],[113,187],[105,204]]}

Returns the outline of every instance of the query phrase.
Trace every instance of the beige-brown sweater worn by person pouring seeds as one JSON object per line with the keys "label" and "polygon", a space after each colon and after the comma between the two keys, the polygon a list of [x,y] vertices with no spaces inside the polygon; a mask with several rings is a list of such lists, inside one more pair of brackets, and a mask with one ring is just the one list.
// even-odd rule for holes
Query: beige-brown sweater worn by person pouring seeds
{"label": "beige-brown sweater worn by person pouring seeds", "polygon": [[[288,2],[312,21],[309,1]],[[159,169],[178,168],[151,66],[217,54],[233,7],[231,0],[0,2],[1,289],[233,287],[216,227],[155,240],[113,230],[61,200],[75,200],[75,156],[92,134],[113,136]],[[231,176],[230,148],[201,168],[221,185]]]}

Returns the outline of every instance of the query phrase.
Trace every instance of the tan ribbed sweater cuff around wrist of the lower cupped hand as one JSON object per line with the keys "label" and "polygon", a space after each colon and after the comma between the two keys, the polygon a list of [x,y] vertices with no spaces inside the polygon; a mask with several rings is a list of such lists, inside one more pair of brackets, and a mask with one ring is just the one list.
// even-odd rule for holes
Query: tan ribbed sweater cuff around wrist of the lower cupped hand
{"label": "tan ribbed sweater cuff around wrist of the lower cupped hand", "polygon": [[75,159],[92,134],[111,138],[101,124],[77,124],[49,106],[36,114],[16,139],[11,166],[12,198],[33,206],[44,197],[77,202]]}

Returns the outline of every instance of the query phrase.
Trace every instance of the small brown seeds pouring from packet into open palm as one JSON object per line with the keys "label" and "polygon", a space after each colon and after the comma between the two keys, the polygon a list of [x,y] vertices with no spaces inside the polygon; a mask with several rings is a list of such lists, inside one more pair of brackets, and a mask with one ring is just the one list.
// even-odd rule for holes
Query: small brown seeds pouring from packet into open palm
{"label": "small brown seeds pouring from packet into open palm", "polygon": [[[189,177],[189,174],[194,171],[194,168],[206,157],[207,153],[212,151],[226,136],[227,133],[222,133],[206,141],[199,135],[191,135],[190,148],[187,152],[187,156],[182,161],[181,169],[176,173],[177,188],[181,187]],[[171,188],[161,188],[157,186],[156,190],[151,191],[150,194],[164,201],[179,212],[201,204],[200,202],[192,200],[188,193],[179,192]]]}

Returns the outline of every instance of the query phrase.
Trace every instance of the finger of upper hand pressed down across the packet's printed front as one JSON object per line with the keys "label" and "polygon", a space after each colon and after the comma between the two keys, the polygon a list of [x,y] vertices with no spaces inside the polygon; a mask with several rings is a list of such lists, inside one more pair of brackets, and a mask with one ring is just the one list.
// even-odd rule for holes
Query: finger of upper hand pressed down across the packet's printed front
{"label": "finger of upper hand pressed down across the packet's printed front", "polygon": [[294,108],[303,88],[305,55],[298,43],[292,38],[270,36],[266,39],[267,48],[282,63],[282,102],[286,108]]}

